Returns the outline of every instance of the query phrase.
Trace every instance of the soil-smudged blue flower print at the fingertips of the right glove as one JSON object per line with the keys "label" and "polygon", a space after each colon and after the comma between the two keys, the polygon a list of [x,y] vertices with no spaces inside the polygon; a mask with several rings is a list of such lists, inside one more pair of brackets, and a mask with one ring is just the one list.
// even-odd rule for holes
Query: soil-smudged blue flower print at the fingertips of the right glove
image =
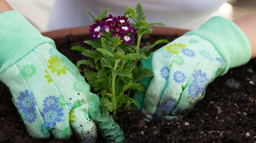
{"label": "soil-smudged blue flower print at the fingertips of the right glove", "polygon": [[164,102],[162,102],[161,104],[158,104],[158,112],[156,113],[157,117],[163,116],[163,115],[168,115],[173,107],[176,105],[178,101],[176,99],[173,98],[166,98],[164,100]]}

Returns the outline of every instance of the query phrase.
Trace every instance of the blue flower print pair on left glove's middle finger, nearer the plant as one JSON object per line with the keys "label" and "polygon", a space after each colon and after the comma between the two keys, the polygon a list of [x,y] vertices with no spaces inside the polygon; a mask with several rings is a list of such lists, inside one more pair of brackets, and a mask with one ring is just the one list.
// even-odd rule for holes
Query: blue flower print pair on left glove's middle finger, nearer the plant
{"label": "blue flower print pair on left glove's middle finger, nearer the plant", "polygon": [[41,115],[44,119],[44,123],[47,129],[50,129],[51,126],[56,126],[56,122],[61,122],[61,118],[64,114],[61,112],[63,108],[59,108],[57,105],[58,99],[55,96],[46,97],[43,100],[43,111]]}

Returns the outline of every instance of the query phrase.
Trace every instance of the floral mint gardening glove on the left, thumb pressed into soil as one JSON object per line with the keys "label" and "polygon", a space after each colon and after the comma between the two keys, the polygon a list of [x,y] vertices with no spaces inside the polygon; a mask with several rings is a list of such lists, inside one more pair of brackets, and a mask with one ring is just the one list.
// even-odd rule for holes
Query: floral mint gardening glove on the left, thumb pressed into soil
{"label": "floral mint gardening glove on the left, thumb pressed into soil", "polygon": [[54,136],[96,142],[97,129],[109,142],[121,142],[123,132],[77,67],[60,54],[19,12],[0,14],[0,80],[27,132],[37,139]]}

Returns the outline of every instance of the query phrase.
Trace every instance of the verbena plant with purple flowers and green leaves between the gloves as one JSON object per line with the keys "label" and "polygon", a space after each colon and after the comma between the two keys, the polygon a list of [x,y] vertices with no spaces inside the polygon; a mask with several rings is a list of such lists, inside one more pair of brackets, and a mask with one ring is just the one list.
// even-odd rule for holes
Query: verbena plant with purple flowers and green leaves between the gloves
{"label": "verbena plant with purple flowers and green leaves between the gloves", "polygon": [[[107,17],[108,11],[109,8],[105,8],[97,17],[85,11],[92,16],[94,24],[89,29],[90,40],[84,42],[90,44],[95,50],[80,46],[72,49],[79,50],[84,56],[89,57],[88,60],[78,61],[76,66],[86,64],[96,69],[97,72],[83,69],[84,77],[94,91],[99,91],[103,113],[110,111],[116,117],[117,111],[130,110],[132,105],[137,105],[137,102],[130,97],[131,90],[145,92],[145,86],[137,81],[154,76],[153,71],[137,67],[137,63],[141,59],[147,59],[149,50],[156,44],[169,42],[158,40],[153,45],[139,47],[141,36],[152,32],[149,25],[164,25],[147,23],[140,4],[137,5],[136,10],[127,6],[124,16],[109,15]],[[130,24],[128,18],[132,18],[135,23]],[[138,40],[137,45],[134,45],[132,43],[135,39],[130,35],[136,33]]]}

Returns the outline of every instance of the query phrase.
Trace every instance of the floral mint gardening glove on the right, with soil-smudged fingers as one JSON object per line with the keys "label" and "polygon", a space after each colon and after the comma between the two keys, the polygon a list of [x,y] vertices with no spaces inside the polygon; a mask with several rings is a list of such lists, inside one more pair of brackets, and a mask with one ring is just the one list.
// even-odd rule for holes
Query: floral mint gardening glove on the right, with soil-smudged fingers
{"label": "floral mint gardening glove on the right, with soil-smudged fingers", "polygon": [[147,91],[135,93],[137,109],[146,120],[154,115],[183,118],[203,98],[209,83],[229,68],[246,64],[250,56],[244,32],[230,20],[213,17],[141,61],[142,68],[155,75],[140,81]]}

